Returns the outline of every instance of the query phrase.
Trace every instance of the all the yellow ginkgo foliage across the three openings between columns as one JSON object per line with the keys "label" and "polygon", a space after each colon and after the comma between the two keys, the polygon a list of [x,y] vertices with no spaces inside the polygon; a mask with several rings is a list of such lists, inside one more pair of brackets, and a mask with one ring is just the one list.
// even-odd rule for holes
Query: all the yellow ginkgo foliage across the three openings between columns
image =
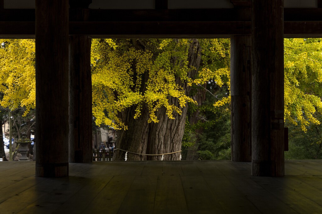
{"label": "all the yellow ginkgo foliage across the three openings between columns", "polygon": [[[118,113],[135,106],[134,118],[141,115],[144,105],[149,108],[150,122],[158,122],[155,112],[166,107],[173,118],[187,102],[194,100],[185,93],[187,86],[214,81],[230,87],[229,42],[225,39],[93,39],[91,49],[93,116],[97,124],[114,128],[126,125]],[[203,65],[189,64],[190,47],[201,48]],[[320,39],[284,39],[284,104],[285,119],[306,131],[320,124],[315,117],[322,113],[322,46]],[[224,63],[223,63],[224,62]],[[25,114],[35,107],[35,43],[33,39],[0,40],[0,105],[15,109],[26,107]],[[144,89],[142,93],[142,89]],[[179,106],[169,103],[170,98]],[[214,103],[226,105],[230,96]]]}

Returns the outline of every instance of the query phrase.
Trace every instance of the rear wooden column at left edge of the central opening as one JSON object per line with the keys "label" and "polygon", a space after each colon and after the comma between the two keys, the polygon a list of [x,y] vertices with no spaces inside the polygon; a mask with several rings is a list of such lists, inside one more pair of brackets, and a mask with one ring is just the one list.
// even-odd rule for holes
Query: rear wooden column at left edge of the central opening
{"label": "rear wooden column at left edge of the central opening", "polygon": [[92,161],[92,82],[88,36],[69,38],[69,162]]}

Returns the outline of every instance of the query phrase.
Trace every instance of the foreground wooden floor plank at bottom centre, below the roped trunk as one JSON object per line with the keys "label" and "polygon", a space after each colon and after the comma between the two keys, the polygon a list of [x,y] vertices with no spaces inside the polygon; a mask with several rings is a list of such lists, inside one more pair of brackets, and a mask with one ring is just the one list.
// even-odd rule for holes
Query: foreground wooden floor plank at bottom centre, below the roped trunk
{"label": "foreground wooden floor plank at bottom centre, below the roped trunk", "polygon": [[180,176],[158,176],[153,213],[188,213]]}

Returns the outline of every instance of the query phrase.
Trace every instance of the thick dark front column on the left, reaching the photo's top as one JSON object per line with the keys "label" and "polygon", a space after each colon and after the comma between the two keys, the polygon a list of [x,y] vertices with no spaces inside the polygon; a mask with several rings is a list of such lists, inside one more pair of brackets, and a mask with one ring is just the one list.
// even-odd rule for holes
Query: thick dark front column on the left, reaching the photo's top
{"label": "thick dark front column on the left, reaching the photo's top", "polygon": [[36,176],[68,176],[68,0],[36,0]]}

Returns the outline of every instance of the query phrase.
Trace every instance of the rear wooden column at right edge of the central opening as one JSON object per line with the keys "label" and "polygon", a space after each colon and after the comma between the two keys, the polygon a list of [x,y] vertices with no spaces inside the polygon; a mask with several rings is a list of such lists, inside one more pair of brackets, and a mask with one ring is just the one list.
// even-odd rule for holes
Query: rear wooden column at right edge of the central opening
{"label": "rear wooden column at right edge of the central opening", "polygon": [[230,40],[232,161],[251,161],[251,36]]}

